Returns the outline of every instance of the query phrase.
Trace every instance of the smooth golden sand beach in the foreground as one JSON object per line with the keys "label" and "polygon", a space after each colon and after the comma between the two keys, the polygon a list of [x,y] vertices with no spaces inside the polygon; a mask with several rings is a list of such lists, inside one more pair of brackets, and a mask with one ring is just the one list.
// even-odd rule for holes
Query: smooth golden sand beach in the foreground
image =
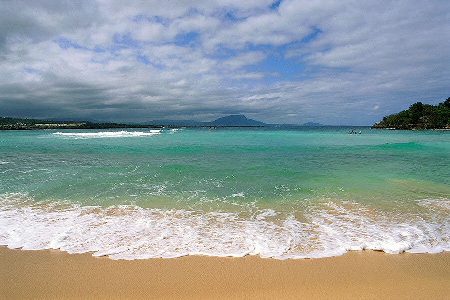
{"label": "smooth golden sand beach in the foreground", "polygon": [[2,299],[450,299],[450,252],[112,260],[0,246]]}

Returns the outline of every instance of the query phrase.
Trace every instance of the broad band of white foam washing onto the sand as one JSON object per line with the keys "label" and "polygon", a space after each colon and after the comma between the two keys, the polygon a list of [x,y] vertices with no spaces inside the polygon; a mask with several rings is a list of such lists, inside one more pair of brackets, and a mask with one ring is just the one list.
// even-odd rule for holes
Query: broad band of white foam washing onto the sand
{"label": "broad band of white foam washing onto the sand", "polygon": [[[448,199],[425,199],[420,215],[389,214],[328,199],[299,216],[273,209],[202,212],[132,205],[38,202],[26,193],[0,195],[0,244],[9,248],[93,251],[112,259],[203,254],[318,258],[348,250],[386,253],[450,251]],[[440,206],[444,206],[441,208]]]}

